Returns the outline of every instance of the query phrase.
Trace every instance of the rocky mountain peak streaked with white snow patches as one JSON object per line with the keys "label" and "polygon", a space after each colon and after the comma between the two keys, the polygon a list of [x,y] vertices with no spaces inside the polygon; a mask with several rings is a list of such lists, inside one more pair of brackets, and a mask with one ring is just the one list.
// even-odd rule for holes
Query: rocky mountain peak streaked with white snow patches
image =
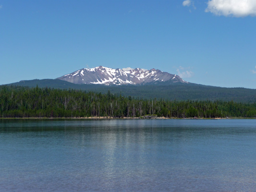
{"label": "rocky mountain peak streaked with white snow patches", "polygon": [[80,69],[76,72],[66,74],[57,79],[68,81],[73,84],[146,84],[146,83],[187,83],[178,75],[173,75],[168,72],[151,69],[144,70],[140,68],[131,69],[111,69],[108,67],[99,66],[91,69]]}

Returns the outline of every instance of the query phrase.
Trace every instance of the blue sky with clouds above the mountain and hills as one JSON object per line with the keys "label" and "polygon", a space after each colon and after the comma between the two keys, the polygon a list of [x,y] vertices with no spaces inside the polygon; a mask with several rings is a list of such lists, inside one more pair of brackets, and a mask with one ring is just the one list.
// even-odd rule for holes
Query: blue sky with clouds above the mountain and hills
{"label": "blue sky with clouds above the mountain and hills", "polygon": [[256,88],[256,0],[0,0],[0,84],[159,69]]}

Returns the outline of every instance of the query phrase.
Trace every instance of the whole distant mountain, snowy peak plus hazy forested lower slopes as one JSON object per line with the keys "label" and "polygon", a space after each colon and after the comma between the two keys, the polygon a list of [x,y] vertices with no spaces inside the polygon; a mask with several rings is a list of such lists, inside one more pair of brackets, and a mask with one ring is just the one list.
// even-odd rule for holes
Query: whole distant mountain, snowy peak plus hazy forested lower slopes
{"label": "whole distant mountain, snowy peak plus hazy forested lower slopes", "polygon": [[[122,94],[123,96],[134,96],[145,99],[256,102],[256,89],[194,84],[185,82],[178,75],[161,72],[156,69],[126,68],[124,70],[99,66],[86,69],[86,72],[89,71],[88,74],[90,74],[86,81],[85,69],[83,68],[63,75],[62,78],[26,80],[7,85],[76,89],[101,93],[110,91],[112,94]],[[63,81],[63,77],[72,79],[73,82]],[[86,84],[87,82],[89,83]]]}

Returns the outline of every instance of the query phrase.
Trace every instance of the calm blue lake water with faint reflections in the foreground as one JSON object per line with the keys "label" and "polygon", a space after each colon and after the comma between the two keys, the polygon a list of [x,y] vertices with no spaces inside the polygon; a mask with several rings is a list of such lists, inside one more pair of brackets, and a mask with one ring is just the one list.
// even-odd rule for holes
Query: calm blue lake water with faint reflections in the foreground
{"label": "calm blue lake water with faint reflections in the foreground", "polygon": [[0,191],[256,191],[256,120],[0,120]]}

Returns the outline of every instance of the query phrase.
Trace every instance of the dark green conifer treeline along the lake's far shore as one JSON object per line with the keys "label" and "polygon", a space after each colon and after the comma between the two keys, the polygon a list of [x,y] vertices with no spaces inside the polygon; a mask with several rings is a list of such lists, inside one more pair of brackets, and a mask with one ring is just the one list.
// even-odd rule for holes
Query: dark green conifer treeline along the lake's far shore
{"label": "dark green conifer treeline along the lake's far shore", "polygon": [[256,102],[170,101],[142,99],[121,94],[0,86],[0,118],[140,117],[256,118]]}

